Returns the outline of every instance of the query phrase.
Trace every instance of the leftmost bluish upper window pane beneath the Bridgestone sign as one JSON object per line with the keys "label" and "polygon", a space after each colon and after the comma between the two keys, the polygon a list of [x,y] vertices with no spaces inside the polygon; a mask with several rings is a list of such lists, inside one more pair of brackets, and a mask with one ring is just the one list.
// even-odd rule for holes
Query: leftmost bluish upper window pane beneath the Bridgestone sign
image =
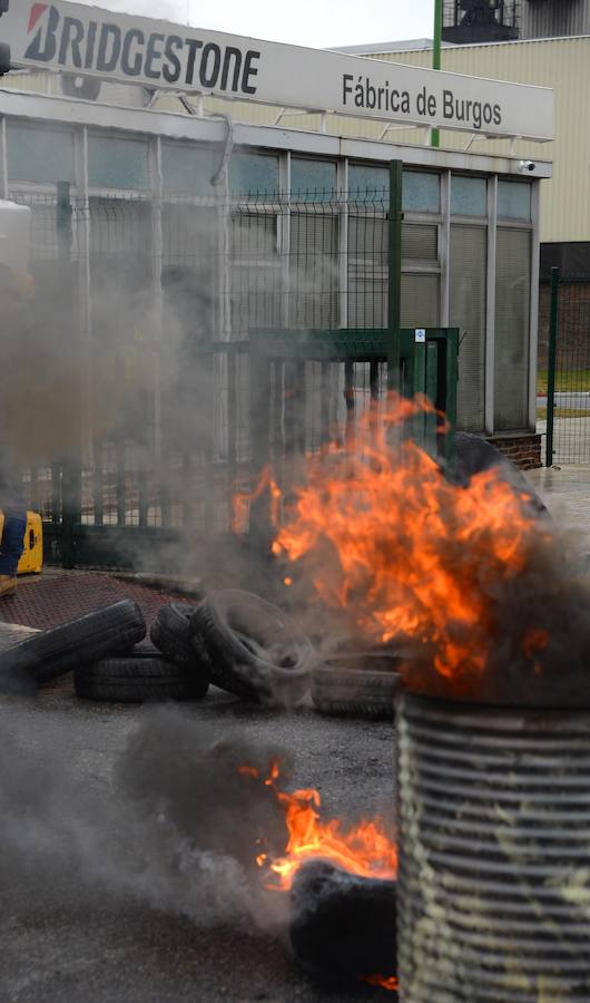
{"label": "leftmost bluish upper window pane beneath the Bridgestone sign", "polygon": [[65,129],[9,121],[7,157],[10,181],[73,182],[73,135]]}

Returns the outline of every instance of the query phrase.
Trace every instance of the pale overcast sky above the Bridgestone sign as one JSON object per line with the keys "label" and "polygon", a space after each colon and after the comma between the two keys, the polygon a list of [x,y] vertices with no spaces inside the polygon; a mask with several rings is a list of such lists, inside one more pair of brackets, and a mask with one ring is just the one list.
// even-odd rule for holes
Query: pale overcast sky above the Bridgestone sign
{"label": "pale overcast sky above the Bridgestone sign", "polygon": [[[187,23],[187,0],[98,0],[94,6]],[[188,11],[196,28],[325,48],[431,38],[434,0],[188,0]]]}

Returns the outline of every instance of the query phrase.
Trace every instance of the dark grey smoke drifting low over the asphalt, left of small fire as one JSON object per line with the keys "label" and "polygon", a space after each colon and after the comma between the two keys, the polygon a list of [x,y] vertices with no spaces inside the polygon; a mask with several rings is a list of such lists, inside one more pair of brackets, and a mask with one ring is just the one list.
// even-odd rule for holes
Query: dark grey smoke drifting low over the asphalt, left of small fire
{"label": "dark grey smoke drifting low over the asphalt, left of small fire", "polygon": [[[56,887],[73,878],[82,898],[95,887],[200,925],[277,928],[284,896],[265,893],[255,864],[260,838],[285,848],[283,811],[264,783],[276,758],[285,761],[160,710],[145,714],[112,775],[87,785],[59,742],[41,756],[3,728],[0,876],[9,860],[11,882],[38,869]],[[244,763],[260,778],[239,773]]]}

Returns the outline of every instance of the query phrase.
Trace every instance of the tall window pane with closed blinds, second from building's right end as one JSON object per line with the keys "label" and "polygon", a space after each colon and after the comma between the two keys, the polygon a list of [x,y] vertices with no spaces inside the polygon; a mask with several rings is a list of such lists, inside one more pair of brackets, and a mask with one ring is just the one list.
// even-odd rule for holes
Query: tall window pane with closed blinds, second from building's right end
{"label": "tall window pane with closed blinds, second from building's right end", "polygon": [[484,226],[451,226],[449,313],[461,342],[458,427],[469,431],[485,423],[486,237]]}

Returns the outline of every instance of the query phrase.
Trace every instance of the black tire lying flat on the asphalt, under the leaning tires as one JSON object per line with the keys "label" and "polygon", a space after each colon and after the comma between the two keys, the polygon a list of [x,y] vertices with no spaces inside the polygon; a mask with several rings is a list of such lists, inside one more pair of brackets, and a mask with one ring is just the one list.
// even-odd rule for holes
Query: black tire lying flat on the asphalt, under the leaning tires
{"label": "black tire lying flat on the asphalt, under the leaning tires", "polygon": [[101,659],[79,669],[73,681],[78,697],[109,703],[197,700],[208,689],[207,681],[195,680],[157,651],[146,651],[141,645],[128,655]]}

